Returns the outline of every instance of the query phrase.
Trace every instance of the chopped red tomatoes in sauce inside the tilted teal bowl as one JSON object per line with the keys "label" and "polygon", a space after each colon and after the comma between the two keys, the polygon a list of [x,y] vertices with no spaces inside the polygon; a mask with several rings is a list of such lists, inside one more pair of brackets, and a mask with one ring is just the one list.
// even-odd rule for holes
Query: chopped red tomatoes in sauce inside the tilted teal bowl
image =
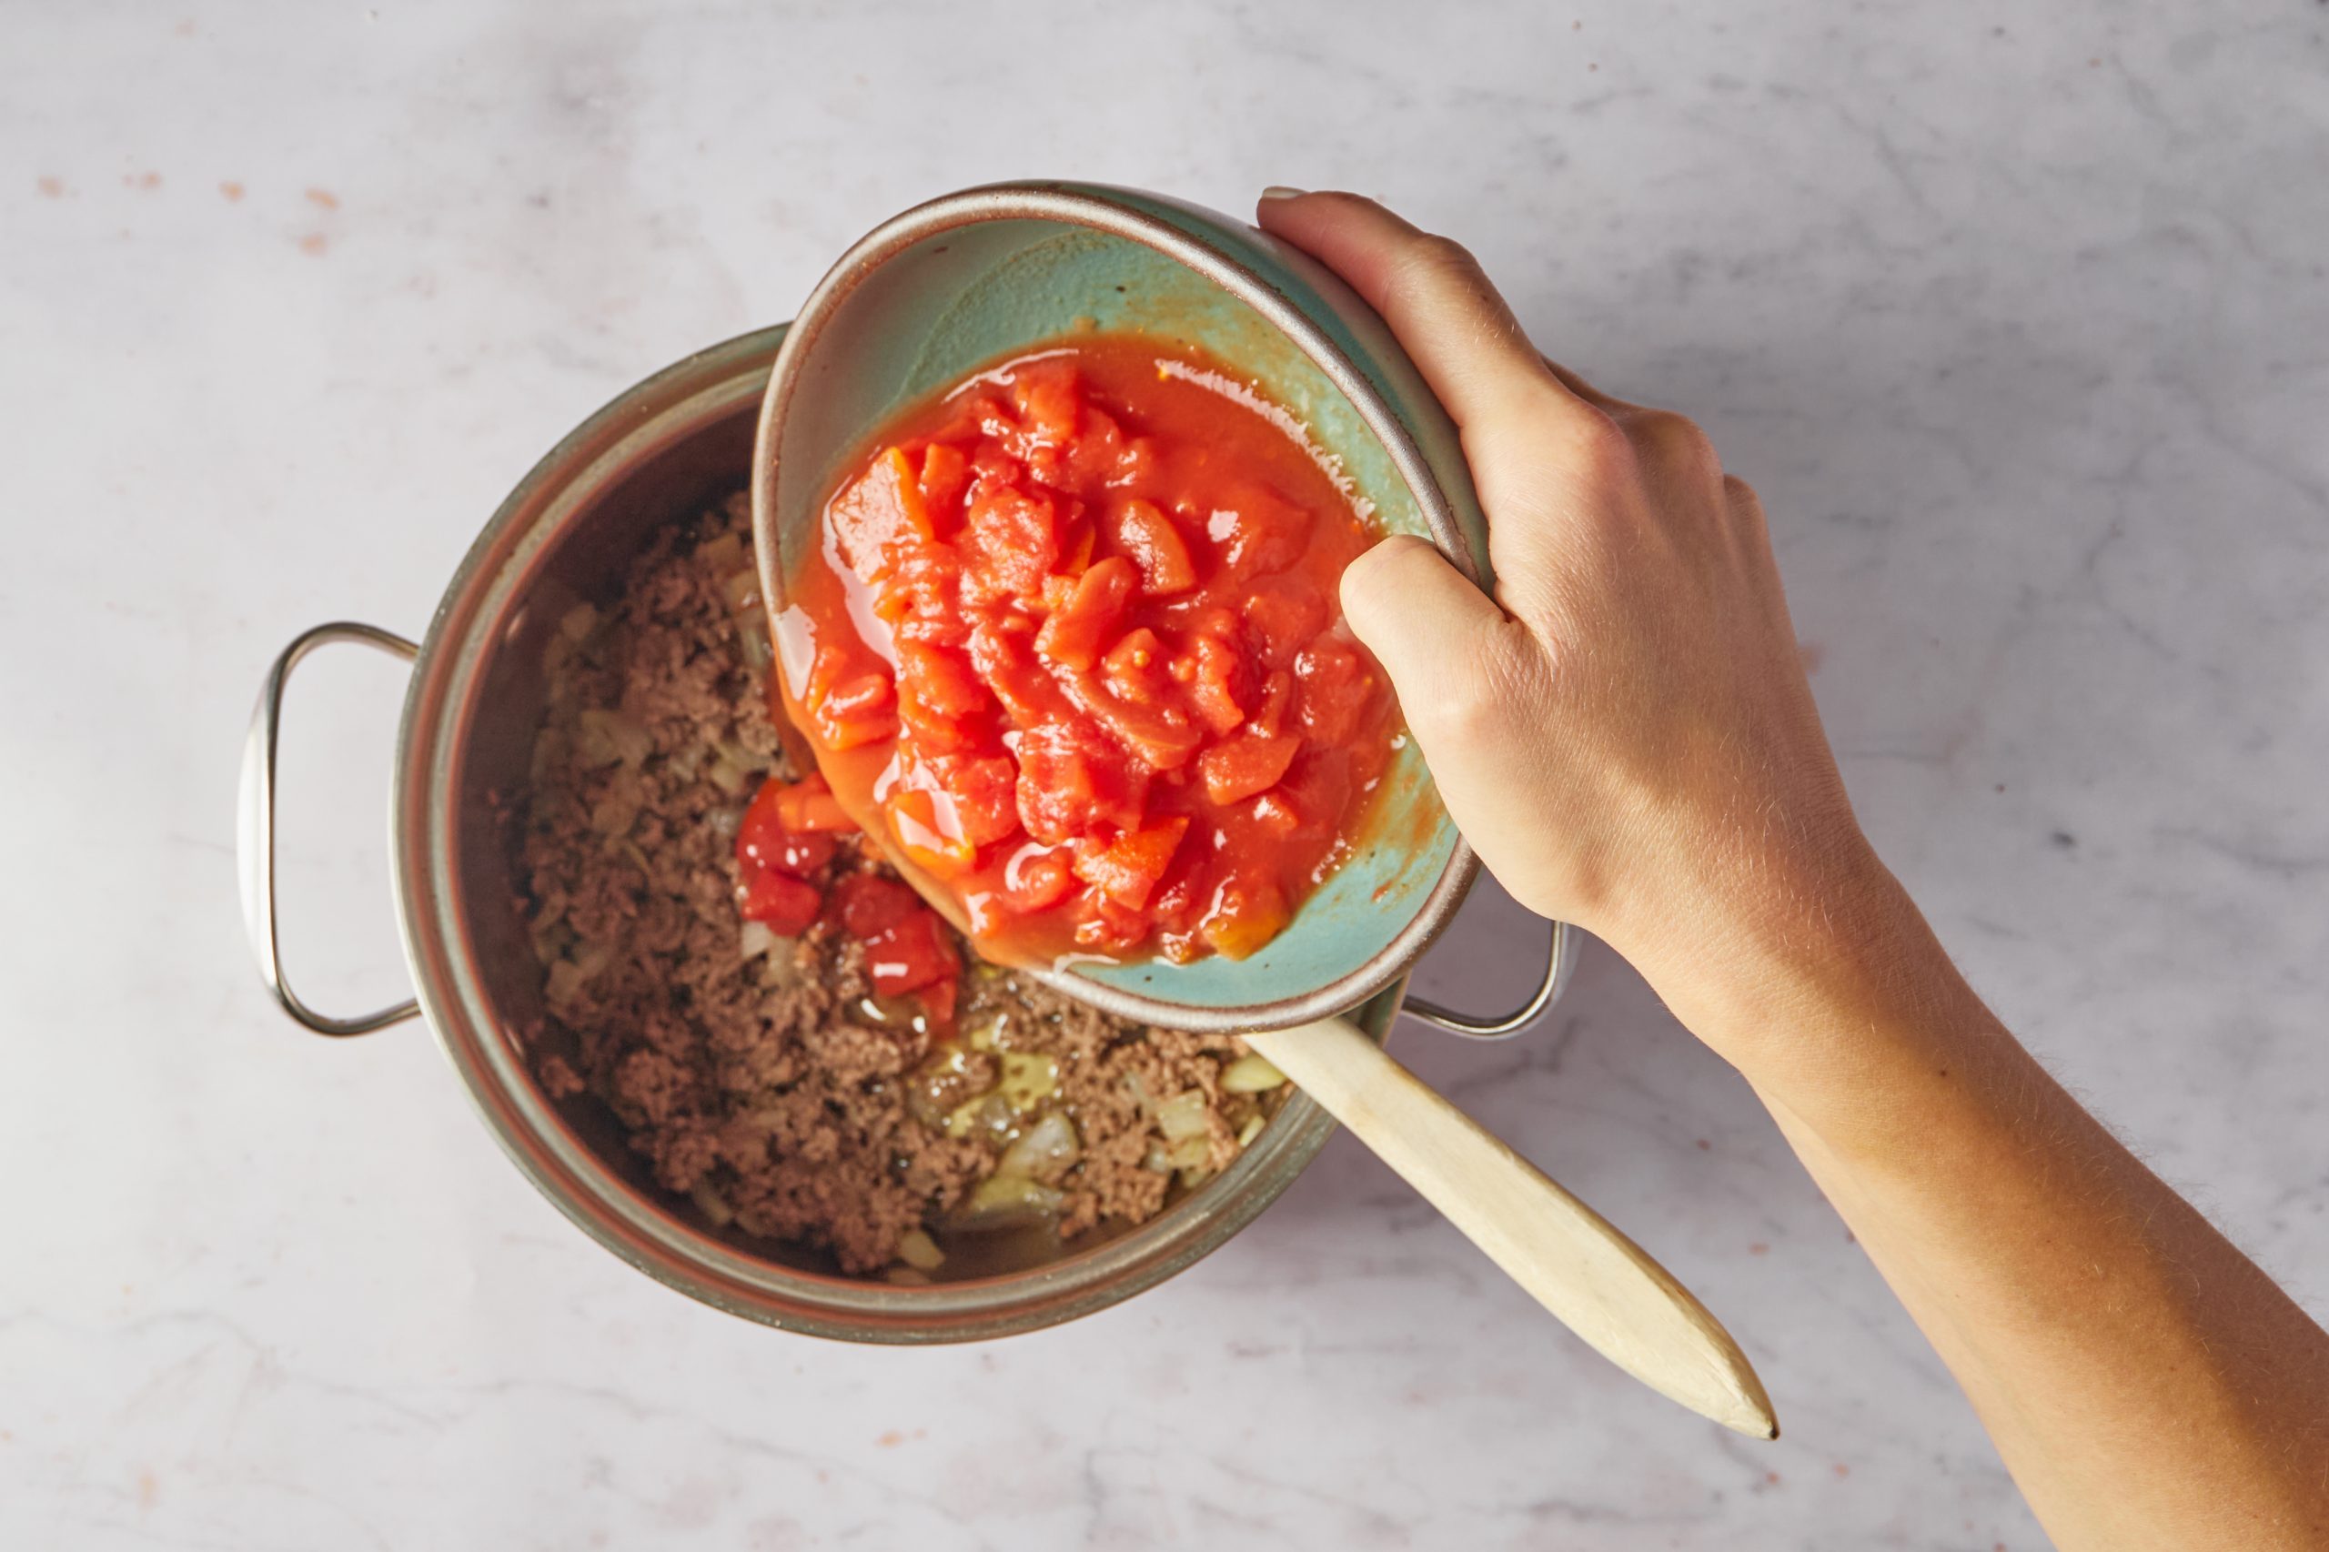
{"label": "chopped red tomatoes in sauce inside the tilted teal bowl", "polygon": [[1374,538],[1251,385],[1076,336],[836,482],[778,618],[785,708],[990,958],[1244,958],[1351,853],[1400,732],[1337,604]]}

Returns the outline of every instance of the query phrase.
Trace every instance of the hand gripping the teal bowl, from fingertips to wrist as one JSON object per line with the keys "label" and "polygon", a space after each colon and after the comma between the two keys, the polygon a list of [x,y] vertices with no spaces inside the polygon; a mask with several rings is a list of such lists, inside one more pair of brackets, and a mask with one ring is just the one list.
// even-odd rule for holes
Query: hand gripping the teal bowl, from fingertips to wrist
{"label": "hand gripping the teal bowl, from fingertips to wrist", "polygon": [[1824,923],[1880,869],[1754,492],[1689,419],[1539,357],[1446,238],[1348,193],[1265,198],[1260,224],[1388,319],[1463,429],[1495,599],[1395,536],[1342,604],[1498,881],[1670,1000],[1709,953]]}

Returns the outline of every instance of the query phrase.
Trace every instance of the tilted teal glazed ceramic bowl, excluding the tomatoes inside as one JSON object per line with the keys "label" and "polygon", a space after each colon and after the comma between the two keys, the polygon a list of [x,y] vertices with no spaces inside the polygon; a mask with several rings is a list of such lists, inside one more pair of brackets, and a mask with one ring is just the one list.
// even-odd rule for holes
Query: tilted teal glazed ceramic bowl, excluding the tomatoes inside
{"label": "tilted teal glazed ceramic bowl, excluding the tomatoes inside", "polygon": [[[827,273],[762,401],[752,534],[762,597],[815,555],[822,506],[901,408],[1078,331],[1190,343],[1286,405],[1386,534],[1416,534],[1488,587],[1488,524],[1456,424],[1383,319],[1267,233],[1158,193],[990,184],[918,205]],[[1414,739],[1393,757],[1372,841],[1246,960],[1041,972],[1111,1014],[1192,1030],[1323,1018],[1397,983],[1477,874]],[[941,893],[943,895],[943,893]]]}

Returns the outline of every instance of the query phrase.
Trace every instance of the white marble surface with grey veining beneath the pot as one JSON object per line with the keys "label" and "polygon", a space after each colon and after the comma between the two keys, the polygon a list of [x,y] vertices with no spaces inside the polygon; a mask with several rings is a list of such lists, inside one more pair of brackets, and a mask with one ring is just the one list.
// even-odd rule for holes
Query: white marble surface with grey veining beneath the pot
{"label": "white marble surface with grey veining beneath the pot", "polygon": [[[1449,7],[1456,9],[1456,7]],[[1388,196],[1772,513],[1868,827],[1975,983],[2329,1300],[2329,12],[0,5],[0,1543],[2038,1547],[1744,1086],[1612,955],[1404,1049],[1761,1363],[1619,1380],[1339,1140],[1078,1326],[785,1338],[587,1244],[426,1035],[261,997],[233,762],[566,426],[862,228],[1069,172]],[[240,191],[240,193],[238,193]],[[319,659],[291,953],[398,990],[398,673]],[[1516,979],[1479,906],[1428,981]]]}

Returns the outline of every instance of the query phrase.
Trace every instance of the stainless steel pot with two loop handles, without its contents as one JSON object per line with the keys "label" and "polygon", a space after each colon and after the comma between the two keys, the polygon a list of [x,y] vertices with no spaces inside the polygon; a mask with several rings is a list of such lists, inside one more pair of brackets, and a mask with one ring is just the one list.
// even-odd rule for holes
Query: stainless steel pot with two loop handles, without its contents
{"label": "stainless steel pot with two loop handles, without its contents", "polygon": [[[1318,1154],[1332,1121],[1293,1095],[1220,1177],[1148,1223],[1090,1237],[1013,1270],[890,1286],[838,1275],[822,1256],[715,1228],[657,1188],[592,1095],[550,1100],[517,1030],[540,1014],[540,967],[515,902],[517,802],[543,722],[543,646],[580,601],[606,604],[647,538],[743,487],[769,366],[785,326],[703,350],[592,415],[510,492],[412,643],[370,625],[319,625],[277,657],[242,764],[242,904],[259,972],[300,1025],[349,1037],[424,1016],[494,1137],[543,1195],[650,1277],[755,1321],[859,1342],[955,1342],[1050,1326],[1130,1298],[1251,1223]],[[359,1016],[307,1007],[284,976],[275,932],[275,746],[284,683],[328,643],[412,662],[396,741],[391,872],[415,1000]],[[1498,1037],[1558,995],[1572,934],[1525,1007],[1477,1021],[1407,1002],[1442,1028]],[[1404,981],[1353,1018],[1376,1039]]]}

